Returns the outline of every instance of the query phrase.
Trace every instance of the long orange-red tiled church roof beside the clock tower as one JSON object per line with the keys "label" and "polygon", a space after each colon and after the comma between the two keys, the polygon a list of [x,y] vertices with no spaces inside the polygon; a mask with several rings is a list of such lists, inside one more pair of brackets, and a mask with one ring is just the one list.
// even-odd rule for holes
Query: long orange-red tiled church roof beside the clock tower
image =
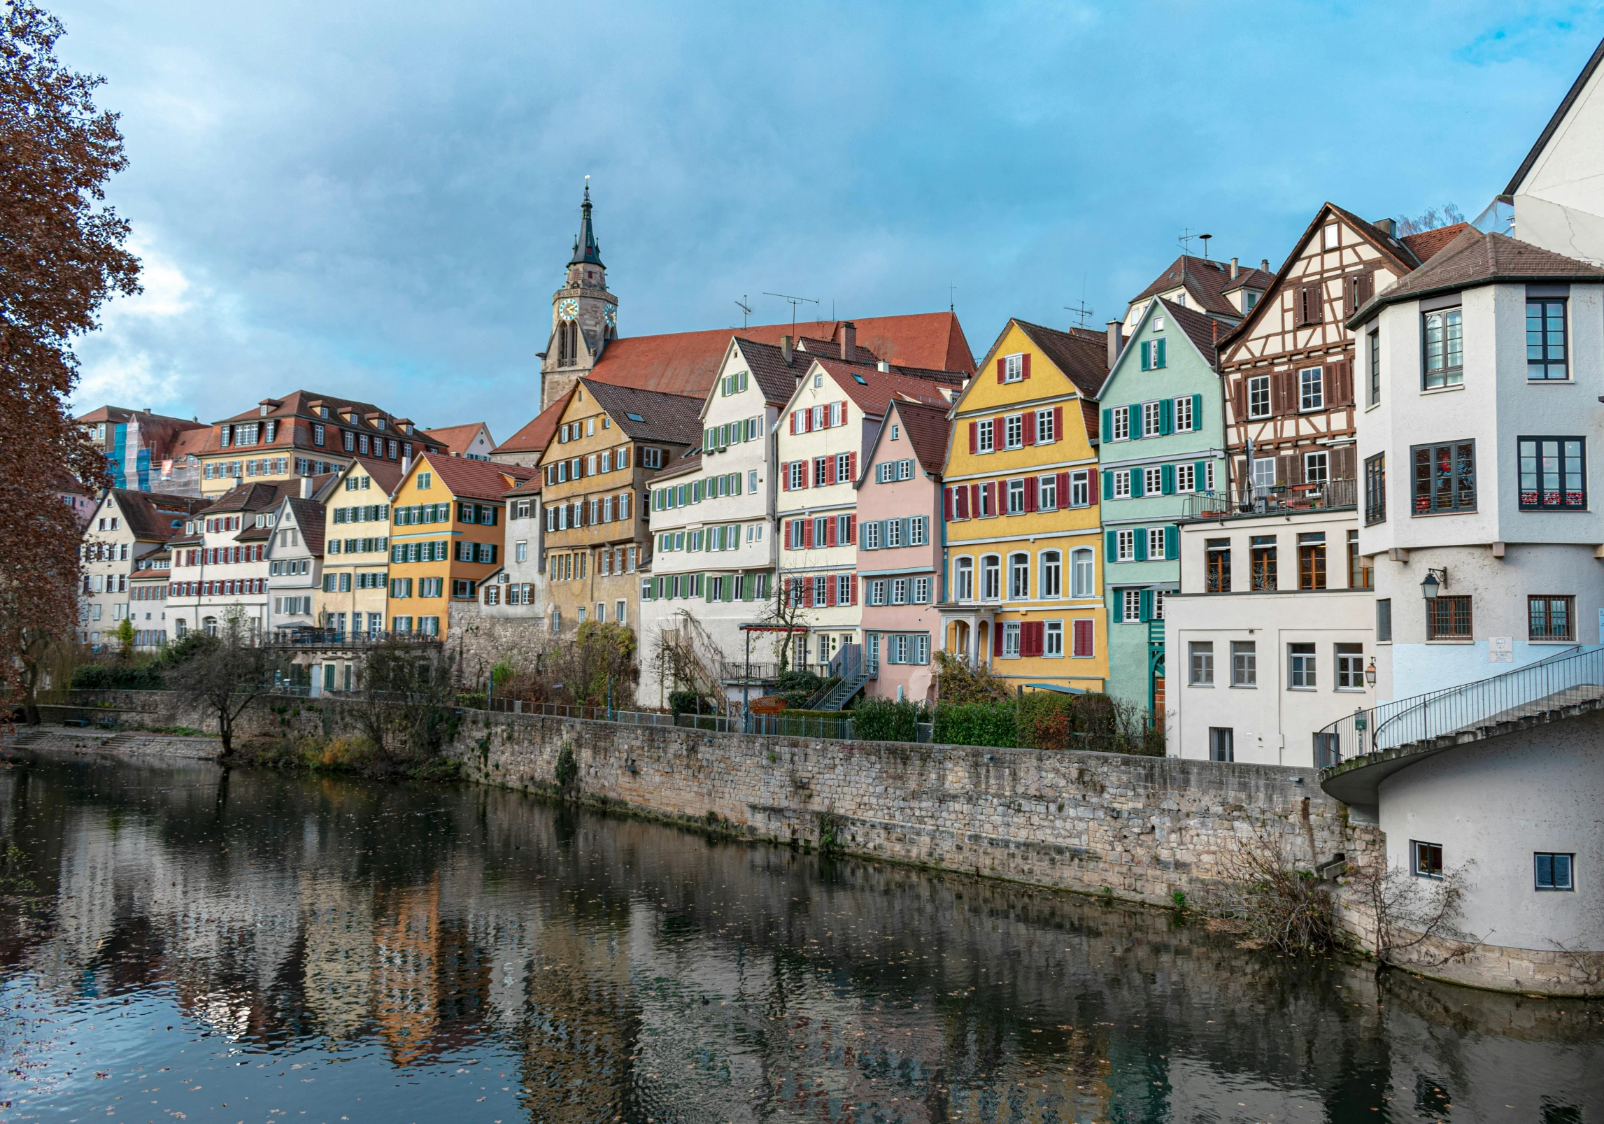
{"label": "long orange-red tiled church roof beside the clock tower", "polygon": [[[804,321],[799,324],[754,324],[747,329],[712,332],[672,332],[635,335],[608,343],[587,378],[614,386],[637,386],[667,394],[706,396],[731,335],[778,345],[781,335],[826,342],[840,354],[842,324],[849,321]],[[858,350],[874,359],[930,370],[970,374],[975,359],[954,313],[913,316],[871,316],[850,321],[857,327]],[[808,350],[808,354],[818,354]]]}

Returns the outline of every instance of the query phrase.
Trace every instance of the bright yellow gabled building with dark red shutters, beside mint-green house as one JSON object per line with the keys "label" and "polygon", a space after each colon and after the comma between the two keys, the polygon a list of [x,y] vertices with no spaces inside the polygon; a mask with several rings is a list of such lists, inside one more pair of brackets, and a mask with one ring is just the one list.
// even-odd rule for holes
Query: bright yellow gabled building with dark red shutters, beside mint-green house
{"label": "bright yellow gabled building with dark red shutters, beside mint-green house", "polygon": [[1025,689],[1108,678],[1094,396],[1110,350],[1009,321],[953,409],[943,646]]}

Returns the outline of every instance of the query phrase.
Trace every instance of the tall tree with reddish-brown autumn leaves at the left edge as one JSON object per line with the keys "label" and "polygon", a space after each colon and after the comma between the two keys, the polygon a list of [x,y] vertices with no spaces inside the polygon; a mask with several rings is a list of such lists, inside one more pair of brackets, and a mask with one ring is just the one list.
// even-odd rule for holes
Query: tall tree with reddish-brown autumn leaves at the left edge
{"label": "tall tree with reddish-brown autumn leaves at the left edge", "polygon": [[67,414],[71,340],[140,292],[128,224],[104,204],[127,164],[117,115],[95,106],[103,79],[56,59],[63,30],[30,0],[0,6],[0,707],[30,720],[77,624],[79,526],[55,484],[109,484]]}

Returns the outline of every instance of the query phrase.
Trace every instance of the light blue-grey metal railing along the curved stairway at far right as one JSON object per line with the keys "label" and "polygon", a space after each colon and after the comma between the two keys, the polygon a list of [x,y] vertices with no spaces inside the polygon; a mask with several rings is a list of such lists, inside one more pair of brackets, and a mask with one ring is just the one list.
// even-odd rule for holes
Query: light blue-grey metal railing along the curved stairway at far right
{"label": "light blue-grey metal railing along the curved stairway at far right", "polygon": [[1314,734],[1318,768],[1604,697],[1604,648],[1567,648],[1474,683],[1381,702]]}

